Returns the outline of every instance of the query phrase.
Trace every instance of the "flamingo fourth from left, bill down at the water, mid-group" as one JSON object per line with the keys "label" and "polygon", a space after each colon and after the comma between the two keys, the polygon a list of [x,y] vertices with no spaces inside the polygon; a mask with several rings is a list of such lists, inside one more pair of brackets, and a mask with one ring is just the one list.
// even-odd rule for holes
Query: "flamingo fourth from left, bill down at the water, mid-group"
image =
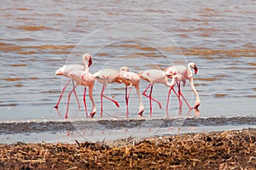
{"label": "flamingo fourth from left, bill down at the water, mid-group", "polygon": [[[144,111],[144,106],[143,106],[143,100],[142,100],[142,95],[140,93],[140,88],[139,88],[139,82],[140,82],[140,77],[134,73],[129,71],[129,68],[127,66],[123,66],[119,70],[119,75],[122,77],[122,82],[125,83],[125,102],[126,102],[126,117],[129,116],[129,110],[128,110],[128,100],[131,92],[131,87],[134,86],[137,91],[137,97],[139,99],[139,112],[138,116],[143,116],[143,111]],[[129,91],[127,91],[127,87],[129,88]]]}

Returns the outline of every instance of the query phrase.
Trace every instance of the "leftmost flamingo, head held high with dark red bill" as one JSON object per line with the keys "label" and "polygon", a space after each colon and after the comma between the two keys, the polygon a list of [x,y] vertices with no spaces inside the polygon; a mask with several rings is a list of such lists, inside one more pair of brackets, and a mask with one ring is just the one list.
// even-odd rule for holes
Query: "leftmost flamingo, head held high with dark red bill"
{"label": "leftmost flamingo, head held high with dark red bill", "polygon": [[[89,67],[92,64],[92,59],[91,59],[90,54],[84,54],[82,59],[83,59],[84,65],[63,65],[60,69],[55,71],[55,75],[61,75],[63,77],[69,77],[68,76],[69,73],[73,70],[79,70],[79,71],[89,70]],[[88,65],[87,65],[86,61],[88,61]],[[61,98],[62,98],[62,95],[65,92],[65,89],[67,88],[67,85],[69,84],[69,82],[71,80],[72,79],[69,79],[67,81],[67,83],[65,84],[64,88],[62,88],[60,98],[58,99],[58,101],[55,105],[56,109],[58,109]],[[73,80],[72,80],[72,82],[73,82]],[[74,87],[74,82],[73,82],[73,87]],[[78,95],[77,95],[76,91],[74,90],[73,93],[75,94],[75,97],[76,97],[76,99],[78,101],[78,104],[79,104],[79,99],[78,99]],[[79,104],[79,108],[80,108],[80,104]]]}

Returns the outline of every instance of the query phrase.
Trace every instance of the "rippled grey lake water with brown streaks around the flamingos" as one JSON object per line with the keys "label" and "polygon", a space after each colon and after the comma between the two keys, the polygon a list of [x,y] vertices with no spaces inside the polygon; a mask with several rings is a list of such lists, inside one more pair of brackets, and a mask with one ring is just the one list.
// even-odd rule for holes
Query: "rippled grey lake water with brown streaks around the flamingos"
{"label": "rippled grey lake water with brown streaks around the flamingos", "polygon": [[[256,2],[253,0],[230,3],[221,0],[34,3],[28,0],[0,4],[0,124],[6,127],[0,133],[0,143],[119,139],[256,125],[252,122],[256,117]],[[155,84],[154,98],[162,102],[163,110],[153,102],[154,112],[149,118],[149,102],[143,96],[143,123],[113,129],[111,126],[119,119],[127,123],[125,87],[108,85],[106,94],[118,100],[121,107],[116,108],[104,99],[102,122],[102,84],[96,82],[95,120],[85,117],[83,106],[78,110],[74,97],[69,119],[65,120],[67,94],[72,86],[67,88],[56,111],[55,103],[68,79],[55,76],[55,71],[66,64],[82,65],[84,53],[93,56],[92,73],[103,68],[119,70],[123,65],[135,72],[164,70],[170,65],[187,65],[193,61],[199,69],[195,88],[201,97],[200,111],[189,112],[184,104],[179,111],[177,99],[172,96],[169,114],[173,123],[161,128],[166,120],[168,88]],[[148,82],[141,81],[141,92],[147,85]],[[195,95],[189,83],[182,90],[193,105]],[[82,105],[83,88],[77,88],[77,92]],[[87,102],[90,111],[89,98]],[[137,107],[137,94],[132,89],[129,108],[132,120],[128,122],[140,122]],[[204,123],[186,124],[188,117]],[[218,121],[209,119],[212,117]],[[91,127],[80,128],[78,121],[90,122]],[[21,125],[31,126],[31,122],[36,123],[32,126],[34,130],[15,131]],[[68,127],[66,122],[75,128]],[[49,128],[37,131],[40,126]]]}

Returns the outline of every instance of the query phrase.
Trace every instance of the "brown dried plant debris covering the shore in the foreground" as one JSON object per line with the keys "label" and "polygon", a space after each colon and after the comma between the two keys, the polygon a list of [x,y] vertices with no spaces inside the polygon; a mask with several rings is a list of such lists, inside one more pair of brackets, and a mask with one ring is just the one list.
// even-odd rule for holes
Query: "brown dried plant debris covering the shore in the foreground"
{"label": "brown dried plant debris covering the shore in the foreground", "polygon": [[0,169],[256,169],[256,129],[112,143],[0,144]]}

